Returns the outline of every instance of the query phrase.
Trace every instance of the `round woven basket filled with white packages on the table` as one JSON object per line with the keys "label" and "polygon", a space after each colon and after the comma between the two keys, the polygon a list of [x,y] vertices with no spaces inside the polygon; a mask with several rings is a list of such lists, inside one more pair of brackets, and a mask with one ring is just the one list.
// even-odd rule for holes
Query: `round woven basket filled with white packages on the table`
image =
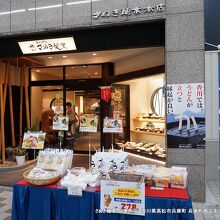
{"label": "round woven basket filled with white packages on the table", "polygon": [[24,172],[23,177],[30,184],[43,186],[57,182],[60,179],[60,173],[57,170],[44,170],[35,167]]}

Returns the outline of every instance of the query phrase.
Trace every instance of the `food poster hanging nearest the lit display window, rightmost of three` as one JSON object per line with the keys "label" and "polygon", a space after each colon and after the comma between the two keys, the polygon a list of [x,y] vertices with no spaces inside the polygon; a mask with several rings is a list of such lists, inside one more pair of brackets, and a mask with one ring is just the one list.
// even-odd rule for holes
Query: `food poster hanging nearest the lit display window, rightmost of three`
{"label": "food poster hanging nearest the lit display window, rightmost of three", "polygon": [[123,133],[122,120],[105,118],[103,121],[103,133]]}

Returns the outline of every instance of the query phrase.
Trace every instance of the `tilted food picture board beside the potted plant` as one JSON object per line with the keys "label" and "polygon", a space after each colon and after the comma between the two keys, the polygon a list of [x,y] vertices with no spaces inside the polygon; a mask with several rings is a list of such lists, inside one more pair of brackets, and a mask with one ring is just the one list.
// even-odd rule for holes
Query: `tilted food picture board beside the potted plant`
{"label": "tilted food picture board beside the potted plant", "polygon": [[25,132],[22,148],[43,149],[46,133],[43,132]]}

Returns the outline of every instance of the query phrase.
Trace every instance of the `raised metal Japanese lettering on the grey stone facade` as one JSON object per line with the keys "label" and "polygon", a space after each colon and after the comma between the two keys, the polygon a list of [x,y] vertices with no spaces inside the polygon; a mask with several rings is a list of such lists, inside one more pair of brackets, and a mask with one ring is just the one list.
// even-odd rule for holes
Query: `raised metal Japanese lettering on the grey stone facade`
{"label": "raised metal Japanese lettering on the grey stone facade", "polygon": [[165,4],[159,3],[157,5],[146,5],[137,6],[134,8],[121,8],[108,11],[94,12],[93,19],[99,18],[110,18],[110,17],[121,17],[121,16],[131,16],[131,15],[143,15],[143,14],[153,14],[157,12],[164,12]]}

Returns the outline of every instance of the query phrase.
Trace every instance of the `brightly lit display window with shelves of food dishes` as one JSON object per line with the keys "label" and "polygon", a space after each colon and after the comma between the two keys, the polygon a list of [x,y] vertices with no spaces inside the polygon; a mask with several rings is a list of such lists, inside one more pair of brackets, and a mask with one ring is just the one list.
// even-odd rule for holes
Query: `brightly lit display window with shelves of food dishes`
{"label": "brightly lit display window with shelves of food dishes", "polygon": [[152,83],[153,80],[147,78],[130,83],[130,139],[118,140],[116,146],[131,154],[164,162],[166,120],[163,77],[157,77],[155,83]]}

